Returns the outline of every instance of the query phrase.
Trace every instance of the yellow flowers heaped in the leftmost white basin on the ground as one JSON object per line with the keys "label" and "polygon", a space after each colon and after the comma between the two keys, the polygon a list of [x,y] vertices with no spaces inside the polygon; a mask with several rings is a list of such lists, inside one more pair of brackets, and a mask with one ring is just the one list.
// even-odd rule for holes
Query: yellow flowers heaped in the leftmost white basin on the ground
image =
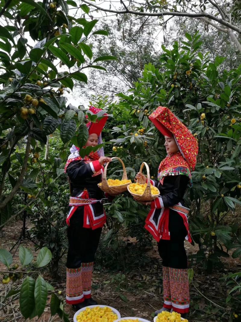
{"label": "yellow flowers heaped in the leftmost white basin on the ground", "polygon": [[77,322],[113,322],[118,317],[111,308],[96,306],[94,308],[86,308],[76,318]]}

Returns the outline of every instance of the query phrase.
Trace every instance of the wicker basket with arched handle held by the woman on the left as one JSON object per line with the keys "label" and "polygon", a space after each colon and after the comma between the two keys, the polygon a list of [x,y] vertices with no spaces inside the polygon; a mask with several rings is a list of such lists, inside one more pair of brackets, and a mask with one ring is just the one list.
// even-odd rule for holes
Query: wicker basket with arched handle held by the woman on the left
{"label": "wicker basket with arched handle held by the woman on the left", "polygon": [[[121,162],[122,167],[123,167],[123,176],[122,176],[122,179],[121,180],[128,180],[127,179],[127,173],[126,173],[126,167],[124,165],[124,162],[120,158],[118,158],[117,156],[113,156],[111,159],[112,160],[118,160],[118,161]],[[107,162],[106,165],[105,165],[105,167],[104,167],[104,172],[103,172],[103,177],[102,177],[102,184],[101,185],[98,184],[98,187],[102,191],[104,191],[104,192],[106,192],[106,193],[108,193],[110,195],[121,194],[122,192],[124,192],[124,191],[127,190],[127,186],[130,184],[130,182],[129,183],[125,183],[124,185],[109,186],[108,185],[108,182],[107,182],[107,179],[106,179],[106,172],[107,172],[107,167],[108,167],[108,164],[109,163],[110,162]]]}

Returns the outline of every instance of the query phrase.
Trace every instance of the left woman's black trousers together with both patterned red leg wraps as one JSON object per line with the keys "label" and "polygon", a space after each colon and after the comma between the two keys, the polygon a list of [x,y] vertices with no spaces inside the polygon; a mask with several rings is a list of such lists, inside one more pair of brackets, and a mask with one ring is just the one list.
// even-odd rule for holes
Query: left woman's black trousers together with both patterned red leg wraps
{"label": "left woman's black trousers together with both patterned red leg wraps", "polygon": [[91,279],[94,255],[102,228],[83,228],[84,212],[79,207],[70,219],[67,229],[68,253],[66,270],[66,301],[68,304],[83,302],[91,297]]}

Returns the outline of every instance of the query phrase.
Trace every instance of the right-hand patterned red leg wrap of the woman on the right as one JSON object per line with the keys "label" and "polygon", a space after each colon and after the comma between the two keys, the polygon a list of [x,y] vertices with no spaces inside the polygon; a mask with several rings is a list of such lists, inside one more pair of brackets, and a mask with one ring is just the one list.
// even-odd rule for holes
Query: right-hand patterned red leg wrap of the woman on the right
{"label": "right-hand patterned red leg wrap of the woman on the right", "polygon": [[169,267],[172,308],[180,314],[189,312],[189,283],[187,269]]}

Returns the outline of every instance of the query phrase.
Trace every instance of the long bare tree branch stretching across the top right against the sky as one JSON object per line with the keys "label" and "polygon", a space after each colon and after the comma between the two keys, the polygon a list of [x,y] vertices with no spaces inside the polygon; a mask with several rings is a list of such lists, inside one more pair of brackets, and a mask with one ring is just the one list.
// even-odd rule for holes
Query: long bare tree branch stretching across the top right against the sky
{"label": "long bare tree branch stretching across the top right against the sky", "polygon": [[100,7],[99,5],[94,5],[92,2],[88,0],[82,0],[82,2],[86,3],[87,5],[93,6],[98,10],[105,11],[105,12],[111,12],[115,14],[136,14],[141,16],[151,16],[151,17],[159,17],[159,16],[178,16],[178,17],[191,17],[191,18],[201,18],[206,17],[211,20],[214,20],[218,22],[219,24],[222,24],[234,31],[237,31],[241,34],[241,28],[238,28],[237,26],[230,24],[226,20],[220,19],[218,17],[215,17],[212,14],[208,14],[206,12],[200,12],[200,13],[188,13],[188,12],[171,12],[171,11],[163,11],[163,12],[140,12],[140,11],[134,11],[134,10],[112,10],[112,9],[105,9],[103,7]]}

